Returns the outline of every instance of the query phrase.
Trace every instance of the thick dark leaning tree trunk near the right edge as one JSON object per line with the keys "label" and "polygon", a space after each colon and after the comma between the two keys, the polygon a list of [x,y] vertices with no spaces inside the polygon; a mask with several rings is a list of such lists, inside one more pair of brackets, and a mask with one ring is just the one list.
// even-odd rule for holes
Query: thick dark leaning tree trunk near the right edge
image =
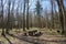
{"label": "thick dark leaning tree trunk near the right edge", "polygon": [[65,10],[64,10],[64,3],[63,0],[56,0],[58,4],[58,10],[59,10],[59,21],[62,25],[62,34],[65,32]]}

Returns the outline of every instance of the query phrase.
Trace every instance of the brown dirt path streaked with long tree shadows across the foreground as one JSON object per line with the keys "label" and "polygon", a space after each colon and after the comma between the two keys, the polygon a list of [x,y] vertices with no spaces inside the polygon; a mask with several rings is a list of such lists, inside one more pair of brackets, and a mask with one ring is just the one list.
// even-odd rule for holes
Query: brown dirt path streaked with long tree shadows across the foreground
{"label": "brown dirt path streaked with long tree shadows across the foreground", "polygon": [[18,35],[18,37],[23,42],[28,42],[26,44],[66,44],[66,40],[54,40],[54,38],[50,40],[47,37],[40,38],[40,37],[22,36],[22,35]]}

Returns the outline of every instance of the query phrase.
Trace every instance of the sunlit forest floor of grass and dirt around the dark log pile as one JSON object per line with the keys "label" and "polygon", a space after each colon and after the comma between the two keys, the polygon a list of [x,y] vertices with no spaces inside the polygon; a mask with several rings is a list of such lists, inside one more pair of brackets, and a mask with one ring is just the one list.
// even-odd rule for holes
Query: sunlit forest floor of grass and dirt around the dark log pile
{"label": "sunlit forest floor of grass and dirt around the dark log pile", "polygon": [[[12,31],[10,33],[14,34],[15,36],[12,37],[10,35],[6,35],[11,44],[66,44],[65,35],[61,35],[56,31],[50,30],[41,30],[43,35],[41,36],[23,36],[23,32]],[[10,44],[3,36],[0,35],[0,44]]]}

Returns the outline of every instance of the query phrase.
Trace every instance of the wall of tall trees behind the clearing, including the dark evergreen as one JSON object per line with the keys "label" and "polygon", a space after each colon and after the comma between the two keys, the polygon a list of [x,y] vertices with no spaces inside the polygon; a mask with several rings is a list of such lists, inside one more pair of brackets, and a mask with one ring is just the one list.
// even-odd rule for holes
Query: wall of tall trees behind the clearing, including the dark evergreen
{"label": "wall of tall trees behind the clearing, including the dark evergreen", "polygon": [[[12,29],[29,30],[30,28],[62,29],[66,32],[66,10],[63,0],[51,0],[51,11],[42,8],[41,0],[36,0],[34,11],[30,10],[30,0],[0,0],[0,29],[2,34]],[[18,1],[18,2],[16,2]],[[16,2],[16,3],[15,3]],[[58,12],[56,11],[56,3]],[[15,9],[16,6],[16,9]]]}

